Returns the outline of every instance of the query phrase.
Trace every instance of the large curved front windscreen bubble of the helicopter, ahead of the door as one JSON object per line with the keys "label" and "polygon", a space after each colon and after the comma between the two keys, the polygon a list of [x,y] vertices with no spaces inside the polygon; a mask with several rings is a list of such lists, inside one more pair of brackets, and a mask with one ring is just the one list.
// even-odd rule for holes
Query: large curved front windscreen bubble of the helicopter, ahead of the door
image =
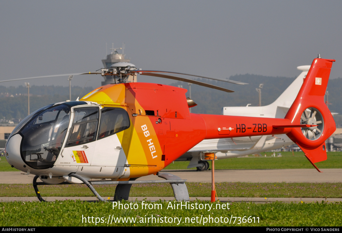
{"label": "large curved front windscreen bubble of the helicopter, ahead of the door", "polygon": [[54,164],[69,127],[71,107],[87,104],[75,102],[45,106],[31,114],[32,117],[19,129],[23,138],[21,157],[31,168],[47,169]]}

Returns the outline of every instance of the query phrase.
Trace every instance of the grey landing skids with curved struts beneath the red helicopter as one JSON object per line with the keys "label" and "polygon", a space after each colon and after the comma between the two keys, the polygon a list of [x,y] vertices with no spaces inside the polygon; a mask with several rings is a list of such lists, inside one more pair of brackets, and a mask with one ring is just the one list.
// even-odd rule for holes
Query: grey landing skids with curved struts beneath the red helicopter
{"label": "grey landing skids with curved struts beneath the red helicopter", "polygon": [[[174,198],[176,201],[188,201],[190,200],[189,198],[189,193],[188,189],[185,185],[186,179],[181,179],[178,176],[172,175],[170,173],[166,172],[158,172],[157,173],[158,177],[164,178],[165,180],[128,180],[128,181],[88,181],[85,178],[83,178],[80,175],[77,175],[75,173],[69,174],[70,177],[75,177],[77,179],[80,179],[83,181],[83,184],[86,184],[87,187],[94,193],[96,198],[99,201],[104,201],[108,202],[108,200],[103,199],[100,194],[97,193],[97,191],[94,189],[93,185],[117,185],[115,188],[115,194],[114,194],[114,201],[120,201],[120,200],[128,200],[129,198],[129,193],[132,187],[132,184],[156,184],[156,183],[170,183]],[[41,202],[45,202],[45,200],[41,197],[40,192],[38,190],[38,185],[48,185],[45,184],[44,182],[37,182],[38,175],[36,175],[33,178],[33,188],[35,189],[37,198]],[[136,179],[136,178],[133,178]],[[59,185],[70,185],[67,181],[64,181],[63,183]]]}

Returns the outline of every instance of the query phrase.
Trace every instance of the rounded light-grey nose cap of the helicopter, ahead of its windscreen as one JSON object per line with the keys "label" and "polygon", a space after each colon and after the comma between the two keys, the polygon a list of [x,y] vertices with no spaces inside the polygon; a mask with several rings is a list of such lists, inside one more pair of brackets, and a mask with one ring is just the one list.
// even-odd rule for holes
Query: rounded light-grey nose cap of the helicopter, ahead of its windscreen
{"label": "rounded light-grey nose cap of the helicopter, ahead of its windscreen", "polygon": [[14,166],[16,169],[23,171],[23,165],[25,164],[20,155],[21,141],[22,136],[20,134],[13,135],[7,142],[5,157],[9,164]]}

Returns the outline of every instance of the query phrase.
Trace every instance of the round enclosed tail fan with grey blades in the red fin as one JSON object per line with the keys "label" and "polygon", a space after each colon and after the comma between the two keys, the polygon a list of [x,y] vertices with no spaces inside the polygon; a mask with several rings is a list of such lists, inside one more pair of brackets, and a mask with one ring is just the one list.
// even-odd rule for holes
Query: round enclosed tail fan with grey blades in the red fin
{"label": "round enclosed tail fan with grey blades in the red fin", "polygon": [[322,114],[314,107],[304,110],[301,116],[301,125],[314,125],[313,127],[301,128],[304,137],[308,140],[317,140],[324,129],[324,119]]}

